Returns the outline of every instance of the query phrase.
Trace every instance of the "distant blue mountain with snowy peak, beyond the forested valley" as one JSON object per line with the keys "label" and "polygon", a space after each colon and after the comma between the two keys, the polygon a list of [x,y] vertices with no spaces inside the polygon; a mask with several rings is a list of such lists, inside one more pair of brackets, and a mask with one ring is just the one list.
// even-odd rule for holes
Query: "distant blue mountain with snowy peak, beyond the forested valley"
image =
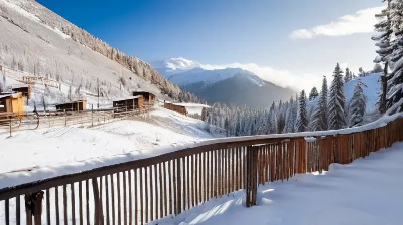
{"label": "distant blue mountain with snowy peak, beyond the forested valley", "polygon": [[260,79],[241,68],[207,70],[200,63],[184,58],[170,58],[151,63],[169,82],[210,103],[268,107],[272,101],[289,100],[296,92]]}

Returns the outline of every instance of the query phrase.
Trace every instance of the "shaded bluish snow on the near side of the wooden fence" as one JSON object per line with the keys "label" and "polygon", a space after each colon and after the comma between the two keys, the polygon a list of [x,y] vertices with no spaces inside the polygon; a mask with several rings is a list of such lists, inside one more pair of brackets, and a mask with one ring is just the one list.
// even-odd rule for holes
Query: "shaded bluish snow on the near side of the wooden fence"
{"label": "shaded bluish snow on the near side of the wooden fence", "polygon": [[258,204],[235,197],[213,199],[158,224],[401,224],[403,142],[323,175],[299,174],[260,186]]}

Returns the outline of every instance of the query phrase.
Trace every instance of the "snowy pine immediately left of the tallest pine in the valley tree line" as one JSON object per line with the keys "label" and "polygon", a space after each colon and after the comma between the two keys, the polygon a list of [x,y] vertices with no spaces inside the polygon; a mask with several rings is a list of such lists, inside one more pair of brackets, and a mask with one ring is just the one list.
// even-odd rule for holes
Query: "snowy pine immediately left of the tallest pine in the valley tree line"
{"label": "snowy pine immediately left of the tallest pine in the valley tree line", "polygon": [[317,107],[313,113],[312,121],[309,124],[311,131],[326,131],[327,122],[327,79],[323,76],[322,89]]}

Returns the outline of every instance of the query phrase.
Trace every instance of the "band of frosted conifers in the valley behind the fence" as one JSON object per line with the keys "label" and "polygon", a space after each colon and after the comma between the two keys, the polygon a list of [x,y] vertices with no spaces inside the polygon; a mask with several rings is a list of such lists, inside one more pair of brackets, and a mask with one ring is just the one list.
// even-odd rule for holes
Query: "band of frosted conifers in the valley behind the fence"
{"label": "band of frosted conifers in the valley behind the fence", "polygon": [[[359,76],[353,97],[346,102],[344,83],[349,81],[350,75],[352,74],[347,68],[343,76],[337,63],[330,88],[326,77],[323,77],[320,92],[313,87],[309,96],[302,90],[299,95],[291,96],[289,101],[273,101],[269,108],[216,103],[213,107],[203,108],[200,119],[222,127],[235,136],[325,131],[360,126],[366,110],[365,84]],[[308,103],[315,105],[307,108]]]}

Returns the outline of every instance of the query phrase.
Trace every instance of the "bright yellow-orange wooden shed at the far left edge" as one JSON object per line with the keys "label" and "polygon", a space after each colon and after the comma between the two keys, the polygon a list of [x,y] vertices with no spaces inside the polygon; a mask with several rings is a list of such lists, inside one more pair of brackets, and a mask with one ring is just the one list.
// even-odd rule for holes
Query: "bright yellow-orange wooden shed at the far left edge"
{"label": "bright yellow-orange wooden shed at the far left edge", "polygon": [[0,105],[0,113],[16,113],[18,116],[25,114],[24,97],[21,93],[0,95]]}

